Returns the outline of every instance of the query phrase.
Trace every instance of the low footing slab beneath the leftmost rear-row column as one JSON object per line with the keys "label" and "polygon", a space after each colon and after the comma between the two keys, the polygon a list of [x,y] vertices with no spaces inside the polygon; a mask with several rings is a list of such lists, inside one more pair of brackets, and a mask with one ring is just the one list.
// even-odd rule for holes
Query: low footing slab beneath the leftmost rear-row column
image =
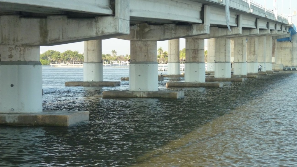
{"label": "low footing slab beneath the leftmost rear-row column", "polygon": [[65,86],[120,86],[120,81],[102,81],[102,82],[84,82],[84,81],[73,81],[65,82]]}

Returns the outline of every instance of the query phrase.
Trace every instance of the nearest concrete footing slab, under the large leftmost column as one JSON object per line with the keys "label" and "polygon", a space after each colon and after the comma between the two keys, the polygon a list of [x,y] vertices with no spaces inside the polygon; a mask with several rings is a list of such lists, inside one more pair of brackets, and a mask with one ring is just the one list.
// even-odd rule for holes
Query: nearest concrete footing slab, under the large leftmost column
{"label": "nearest concrete footing slab, under the large leftmost column", "polygon": [[89,111],[43,111],[31,114],[0,114],[0,124],[13,126],[69,126],[89,121]]}

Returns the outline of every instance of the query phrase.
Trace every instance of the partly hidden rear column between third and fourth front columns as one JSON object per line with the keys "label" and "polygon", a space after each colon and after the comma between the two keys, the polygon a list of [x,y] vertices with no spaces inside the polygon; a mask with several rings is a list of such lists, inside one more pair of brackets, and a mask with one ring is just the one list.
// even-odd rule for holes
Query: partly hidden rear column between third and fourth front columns
{"label": "partly hidden rear column between third and fourth front columns", "polygon": [[214,71],[214,61],[216,59],[216,39],[207,40],[207,71]]}

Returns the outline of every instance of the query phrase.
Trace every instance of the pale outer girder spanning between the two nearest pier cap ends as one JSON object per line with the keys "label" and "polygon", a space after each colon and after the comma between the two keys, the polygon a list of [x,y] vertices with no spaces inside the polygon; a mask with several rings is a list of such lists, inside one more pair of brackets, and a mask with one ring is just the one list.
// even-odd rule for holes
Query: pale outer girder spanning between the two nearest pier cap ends
{"label": "pale outer girder spanning between the two nearest pier cap ends", "polygon": [[202,6],[203,4],[190,0],[130,0],[130,16],[131,20],[141,21],[155,19],[202,23]]}

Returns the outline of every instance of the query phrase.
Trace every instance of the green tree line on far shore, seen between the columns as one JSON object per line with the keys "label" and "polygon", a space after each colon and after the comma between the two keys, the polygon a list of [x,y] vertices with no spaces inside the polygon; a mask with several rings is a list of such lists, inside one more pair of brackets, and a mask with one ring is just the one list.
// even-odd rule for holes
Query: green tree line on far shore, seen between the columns
{"label": "green tree line on far shore, seen between the columns", "polygon": [[[207,62],[207,50],[204,52],[204,60]],[[130,59],[130,55],[126,54],[125,56],[117,56],[116,50],[112,50],[111,54],[102,54],[102,62],[105,64],[114,64],[121,62],[128,62]],[[183,48],[179,51],[179,60],[180,62],[184,62],[186,59],[186,48]],[[70,51],[67,50],[63,53],[54,50],[48,50],[42,54],[40,54],[40,62],[42,65],[49,64],[83,64],[84,57],[82,53],[78,53],[78,51]],[[167,64],[168,63],[168,52],[163,51],[163,48],[160,47],[157,50],[157,61],[159,64]]]}

